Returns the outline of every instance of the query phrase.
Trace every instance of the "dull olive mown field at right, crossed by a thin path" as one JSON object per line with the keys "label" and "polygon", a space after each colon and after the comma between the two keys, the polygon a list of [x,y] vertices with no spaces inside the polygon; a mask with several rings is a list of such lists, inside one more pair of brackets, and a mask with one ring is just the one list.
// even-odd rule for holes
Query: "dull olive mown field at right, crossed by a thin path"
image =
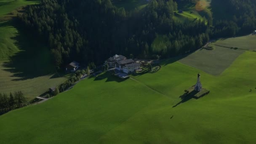
{"label": "dull olive mown field at right, crossed by a thin path", "polygon": [[[200,49],[180,62],[201,69],[212,75],[219,75],[227,69],[233,61],[246,50],[256,50],[256,36],[247,35],[217,40],[212,43],[214,50]],[[236,49],[236,48],[237,49]]]}

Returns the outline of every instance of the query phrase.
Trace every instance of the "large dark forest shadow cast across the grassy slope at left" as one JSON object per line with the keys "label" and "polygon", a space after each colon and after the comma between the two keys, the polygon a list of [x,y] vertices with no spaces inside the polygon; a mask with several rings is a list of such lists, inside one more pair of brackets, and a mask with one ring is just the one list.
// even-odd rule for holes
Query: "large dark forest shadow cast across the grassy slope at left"
{"label": "large dark forest shadow cast across the grassy slope at left", "polygon": [[20,27],[16,20],[8,21],[2,26],[12,26],[18,31],[18,34],[11,39],[15,41],[14,44],[20,51],[3,64],[6,68],[4,70],[13,74],[11,77],[18,77],[13,80],[27,80],[55,73],[50,49],[42,40],[36,39],[28,29]]}

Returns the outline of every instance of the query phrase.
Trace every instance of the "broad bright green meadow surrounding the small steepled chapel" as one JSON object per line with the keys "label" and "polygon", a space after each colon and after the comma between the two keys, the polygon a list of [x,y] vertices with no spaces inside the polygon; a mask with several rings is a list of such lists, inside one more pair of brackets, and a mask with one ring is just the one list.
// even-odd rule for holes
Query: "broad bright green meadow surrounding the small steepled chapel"
{"label": "broad bright green meadow surrounding the small steepled chapel", "polygon": [[83,80],[43,104],[0,116],[1,142],[254,142],[255,67],[256,53],[246,51],[219,76],[201,72],[211,93],[174,108],[184,89],[195,84],[198,69],[174,62],[134,77],[138,81]]}

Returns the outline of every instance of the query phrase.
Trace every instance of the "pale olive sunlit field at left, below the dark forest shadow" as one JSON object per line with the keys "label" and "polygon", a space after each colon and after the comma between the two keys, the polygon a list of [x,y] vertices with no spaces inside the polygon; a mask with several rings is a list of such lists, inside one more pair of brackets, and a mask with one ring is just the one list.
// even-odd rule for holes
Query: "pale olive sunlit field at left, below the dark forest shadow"
{"label": "pale olive sunlit field at left, below the dark forest shadow", "polygon": [[[23,63],[25,61],[22,61]],[[67,80],[64,77],[58,77],[54,72],[46,75],[28,76],[26,72],[16,71],[15,67],[6,67],[9,61],[0,61],[0,92],[10,93],[22,91],[28,100],[34,99],[36,96],[48,91],[49,88],[59,85]],[[33,72],[33,68],[29,68]],[[40,70],[40,69],[38,69]]]}

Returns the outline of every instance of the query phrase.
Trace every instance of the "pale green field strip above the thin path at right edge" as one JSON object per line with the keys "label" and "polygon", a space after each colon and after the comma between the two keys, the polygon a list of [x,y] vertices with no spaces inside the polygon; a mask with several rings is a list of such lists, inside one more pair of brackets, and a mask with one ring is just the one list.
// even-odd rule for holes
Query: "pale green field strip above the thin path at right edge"
{"label": "pale green field strip above the thin path at right edge", "polygon": [[232,37],[224,40],[218,40],[216,45],[225,47],[237,47],[246,50],[256,50],[256,35],[247,35],[243,37]]}

